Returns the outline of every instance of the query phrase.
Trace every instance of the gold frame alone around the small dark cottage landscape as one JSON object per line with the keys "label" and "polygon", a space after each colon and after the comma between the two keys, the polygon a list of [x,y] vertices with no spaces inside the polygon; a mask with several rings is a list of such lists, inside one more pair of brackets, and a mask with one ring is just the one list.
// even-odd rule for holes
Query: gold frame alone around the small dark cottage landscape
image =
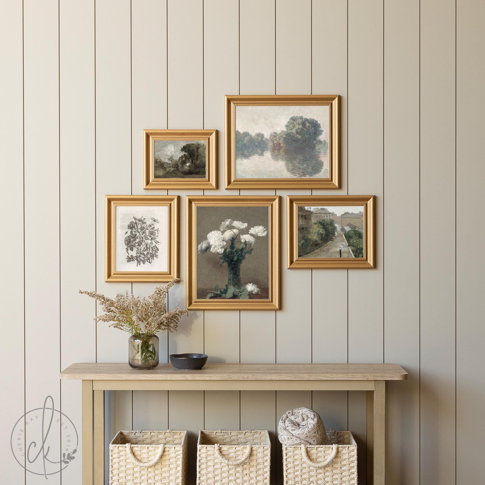
{"label": "gold frame alone around the small dark cottage landscape", "polygon": [[[205,141],[205,178],[155,178],[154,144],[162,141]],[[218,132],[216,129],[144,129],[144,189],[217,189],[218,181]]]}

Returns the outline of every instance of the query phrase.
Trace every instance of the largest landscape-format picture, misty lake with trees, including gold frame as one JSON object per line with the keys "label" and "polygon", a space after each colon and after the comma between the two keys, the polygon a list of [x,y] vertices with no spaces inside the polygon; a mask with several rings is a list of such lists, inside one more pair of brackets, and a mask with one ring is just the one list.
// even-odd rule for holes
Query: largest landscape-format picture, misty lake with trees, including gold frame
{"label": "largest landscape-format picture, misty lake with trees, including gold frame", "polygon": [[227,189],[339,189],[338,95],[226,96]]}

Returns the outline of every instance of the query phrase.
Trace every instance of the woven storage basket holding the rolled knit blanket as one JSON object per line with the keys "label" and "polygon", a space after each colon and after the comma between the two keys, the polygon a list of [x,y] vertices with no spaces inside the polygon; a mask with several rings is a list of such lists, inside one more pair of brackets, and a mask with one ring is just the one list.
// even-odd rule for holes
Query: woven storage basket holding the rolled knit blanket
{"label": "woven storage basket holding the rolled knit blanket", "polygon": [[349,431],[327,432],[331,445],[283,445],[285,485],[357,485],[357,444]]}

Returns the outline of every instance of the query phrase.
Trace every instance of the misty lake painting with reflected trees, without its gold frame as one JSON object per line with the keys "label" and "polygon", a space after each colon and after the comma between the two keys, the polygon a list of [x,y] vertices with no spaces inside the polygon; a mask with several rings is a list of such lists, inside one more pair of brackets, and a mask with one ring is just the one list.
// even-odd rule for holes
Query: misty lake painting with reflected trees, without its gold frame
{"label": "misty lake painting with reflected trees, without its gold frame", "polygon": [[328,106],[236,106],[236,178],[328,178]]}

